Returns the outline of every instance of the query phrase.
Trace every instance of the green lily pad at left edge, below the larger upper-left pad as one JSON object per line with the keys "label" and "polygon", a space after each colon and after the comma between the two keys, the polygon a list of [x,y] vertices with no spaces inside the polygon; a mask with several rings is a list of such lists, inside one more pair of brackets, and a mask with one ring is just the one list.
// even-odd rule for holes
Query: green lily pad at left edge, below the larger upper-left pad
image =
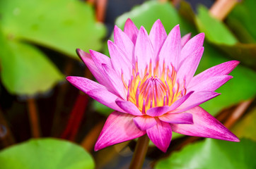
{"label": "green lily pad at left edge, below the larger upper-left pad", "polygon": [[[1,31],[1,30],[0,30]],[[1,80],[12,94],[45,92],[62,80],[62,74],[34,46],[7,40],[0,34]]]}

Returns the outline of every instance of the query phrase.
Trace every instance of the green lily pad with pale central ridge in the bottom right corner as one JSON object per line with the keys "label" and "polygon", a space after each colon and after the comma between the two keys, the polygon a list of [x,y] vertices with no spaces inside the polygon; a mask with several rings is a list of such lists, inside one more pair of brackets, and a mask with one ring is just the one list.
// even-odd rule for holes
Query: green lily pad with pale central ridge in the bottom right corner
{"label": "green lily pad with pale central ridge in the bottom right corner", "polygon": [[253,169],[256,142],[241,139],[240,143],[206,139],[186,146],[169,158],[159,161],[156,169]]}

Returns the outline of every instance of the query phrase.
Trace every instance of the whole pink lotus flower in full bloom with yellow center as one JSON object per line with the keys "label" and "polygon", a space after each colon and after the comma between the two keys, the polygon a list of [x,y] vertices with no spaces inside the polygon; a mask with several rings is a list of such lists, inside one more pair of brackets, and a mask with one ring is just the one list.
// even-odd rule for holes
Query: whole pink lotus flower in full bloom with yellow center
{"label": "whole pink lotus flower in full bloom with yellow center", "polygon": [[[95,144],[95,151],[148,134],[166,151],[172,132],[239,142],[216,118],[199,107],[219,94],[214,92],[232,78],[238,61],[216,65],[194,76],[202,57],[204,33],[180,37],[176,25],[169,35],[160,20],[148,33],[127,20],[124,32],[115,26],[108,41],[111,58],[77,50],[99,83],[67,77],[75,87],[115,111],[110,114]],[[194,77],[193,77],[194,76]]]}

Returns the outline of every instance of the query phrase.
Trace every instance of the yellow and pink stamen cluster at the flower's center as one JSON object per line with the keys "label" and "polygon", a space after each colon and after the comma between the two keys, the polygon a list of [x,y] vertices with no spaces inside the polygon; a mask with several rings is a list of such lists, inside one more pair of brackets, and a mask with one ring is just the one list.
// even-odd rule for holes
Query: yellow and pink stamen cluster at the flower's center
{"label": "yellow and pink stamen cluster at the flower's center", "polygon": [[[152,70],[152,63],[146,66],[144,75],[139,75],[138,65],[132,70],[132,77],[128,85],[124,82],[127,89],[127,101],[135,104],[139,110],[146,114],[149,108],[156,106],[170,106],[174,101],[186,94],[185,81],[180,87],[176,80],[176,71],[163,67],[159,68],[158,63]],[[182,89],[181,89],[182,88]]]}

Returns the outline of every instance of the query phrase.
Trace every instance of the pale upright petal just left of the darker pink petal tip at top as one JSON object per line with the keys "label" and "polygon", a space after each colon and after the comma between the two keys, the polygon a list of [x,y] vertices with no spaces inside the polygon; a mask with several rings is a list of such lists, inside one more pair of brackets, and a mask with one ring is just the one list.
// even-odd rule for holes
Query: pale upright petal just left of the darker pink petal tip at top
{"label": "pale upright petal just left of the darker pink petal tip at top", "polygon": [[[114,28],[114,42],[120,49],[122,49],[123,54],[129,61],[129,63],[132,63],[132,61],[134,59],[134,43],[117,26],[115,26],[115,28]],[[111,56],[111,54],[110,54],[110,56]],[[112,58],[112,56],[111,56],[111,58]]]}

